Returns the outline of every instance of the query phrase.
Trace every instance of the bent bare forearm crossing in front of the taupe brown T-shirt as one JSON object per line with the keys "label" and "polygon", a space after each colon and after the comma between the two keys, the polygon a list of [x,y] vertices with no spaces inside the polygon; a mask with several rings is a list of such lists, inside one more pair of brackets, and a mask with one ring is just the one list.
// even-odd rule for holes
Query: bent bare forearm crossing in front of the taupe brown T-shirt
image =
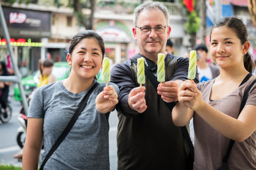
{"label": "bent bare forearm crossing in front of the taupe brown T-shirt", "polygon": [[205,122],[220,134],[237,142],[242,142],[256,130],[256,105],[246,105],[236,119],[203,101],[202,93],[198,89],[192,89],[192,91],[197,92],[197,96],[184,103],[195,110]]}

